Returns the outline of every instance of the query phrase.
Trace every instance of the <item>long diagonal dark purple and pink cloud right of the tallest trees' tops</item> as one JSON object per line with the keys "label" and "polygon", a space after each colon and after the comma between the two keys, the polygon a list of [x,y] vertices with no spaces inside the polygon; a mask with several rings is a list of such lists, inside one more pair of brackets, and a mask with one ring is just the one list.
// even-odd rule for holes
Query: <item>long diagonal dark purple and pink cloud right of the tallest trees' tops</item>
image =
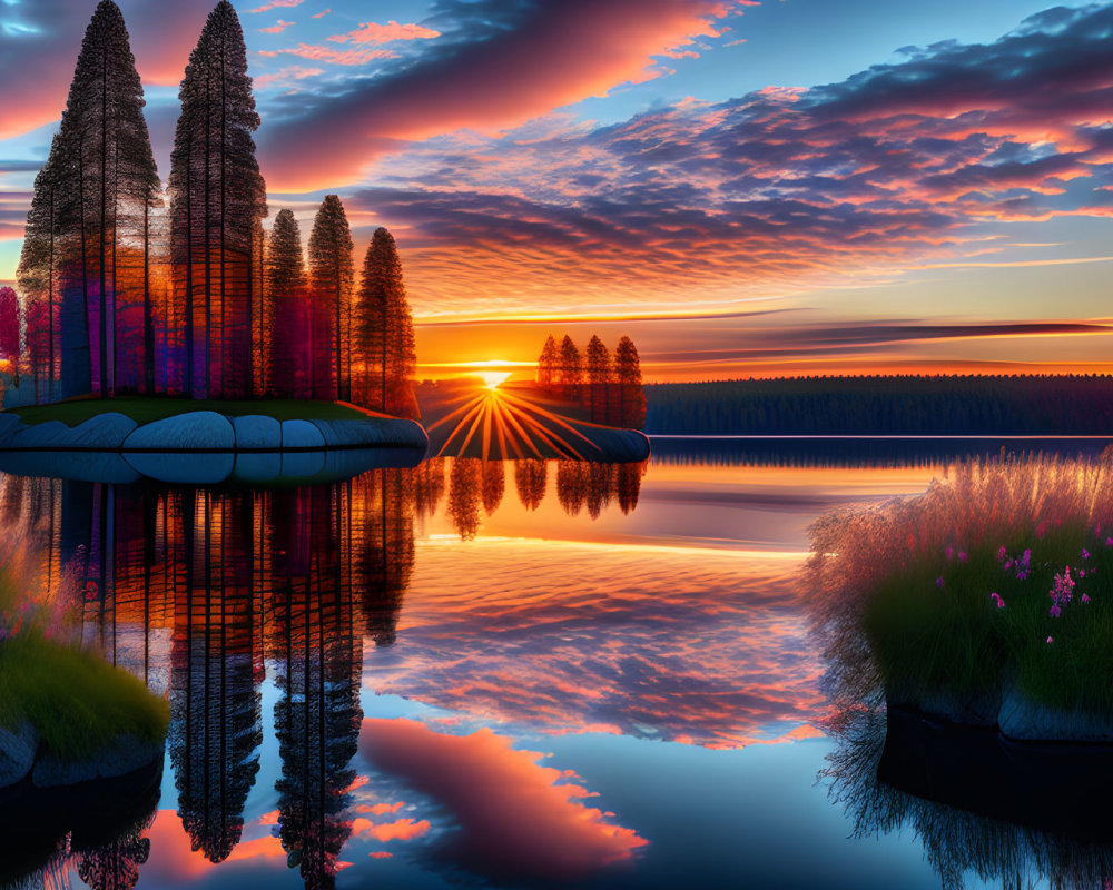
{"label": "long diagonal dark purple and pink cloud right of the tallest trees' tops", "polygon": [[[491,4],[442,2],[426,24],[469,6],[485,10]],[[393,77],[355,82],[306,115],[272,123],[260,132],[264,174],[280,190],[351,182],[384,140],[514,126],[622,83],[649,80],[660,73],[654,56],[717,34],[713,21],[732,6],[643,0],[631,16],[626,0],[567,0],[520,4],[518,18],[503,29],[482,24],[473,30],[466,19],[456,30],[469,39],[446,40],[442,51]],[[451,38],[446,27],[436,30]]]}

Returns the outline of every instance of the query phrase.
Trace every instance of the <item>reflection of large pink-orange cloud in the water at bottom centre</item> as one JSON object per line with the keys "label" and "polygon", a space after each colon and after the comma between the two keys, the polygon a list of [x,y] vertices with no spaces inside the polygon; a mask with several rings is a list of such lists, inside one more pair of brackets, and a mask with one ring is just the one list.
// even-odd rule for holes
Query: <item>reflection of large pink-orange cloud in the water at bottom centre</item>
{"label": "reflection of large pink-orange cloud in the water at bottom centre", "polygon": [[359,751],[452,812],[461,837],[447,854],[481,873],[570,880],[647,844],[581,803],[591,793],[539,765],[542,754],[515,750],[490,729],[446,735],[412,720],[368,719]]}

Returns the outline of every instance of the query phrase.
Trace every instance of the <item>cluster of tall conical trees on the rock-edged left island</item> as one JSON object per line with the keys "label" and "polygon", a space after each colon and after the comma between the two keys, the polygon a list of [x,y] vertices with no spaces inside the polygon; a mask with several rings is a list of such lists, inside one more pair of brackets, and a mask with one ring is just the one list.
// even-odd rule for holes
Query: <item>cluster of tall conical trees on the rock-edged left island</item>
{"label": "cluster of tall conical trees on the rock-edged left island", "polygon": [[412,413],[413,325],[390,233],[375,233],[356,289],[335,195],[314,221],[308,269],[288,210],[264,231],[260,121],[227,0],[178,97],[164,191],[124,17],[101,0],[35,181],[14,317],[0,295],[0,358],[33,377],[38,402],[312,397]]}

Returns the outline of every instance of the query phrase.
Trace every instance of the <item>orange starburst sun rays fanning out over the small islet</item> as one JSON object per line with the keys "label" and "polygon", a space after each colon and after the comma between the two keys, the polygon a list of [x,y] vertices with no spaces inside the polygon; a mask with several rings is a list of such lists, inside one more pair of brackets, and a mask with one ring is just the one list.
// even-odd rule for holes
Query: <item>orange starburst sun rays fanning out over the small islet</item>
{"label": "orange starburst sun rays fanning out over the small islet", "polygon": [[[499,379],[491,383],[487,376]],[[508,376],[494,372],[484,375],[484,392],[429,427],[433,433],[455,423],[437,451],[439,457],[465,455],[473,442],[483,459],[560,456],[588,461],[601,455],[598,445],[560,415],[498,389]]]}

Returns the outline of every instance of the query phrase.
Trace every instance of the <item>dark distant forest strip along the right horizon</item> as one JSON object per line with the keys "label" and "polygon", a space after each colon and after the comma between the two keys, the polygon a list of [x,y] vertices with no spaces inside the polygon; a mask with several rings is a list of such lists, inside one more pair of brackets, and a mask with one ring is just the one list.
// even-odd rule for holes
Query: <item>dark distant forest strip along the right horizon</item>
{"label": "dark distant forest strip along the right horizon", "polygon": [[1113,435],[1111,376],[794,377],[644,392],[650,434]]}

